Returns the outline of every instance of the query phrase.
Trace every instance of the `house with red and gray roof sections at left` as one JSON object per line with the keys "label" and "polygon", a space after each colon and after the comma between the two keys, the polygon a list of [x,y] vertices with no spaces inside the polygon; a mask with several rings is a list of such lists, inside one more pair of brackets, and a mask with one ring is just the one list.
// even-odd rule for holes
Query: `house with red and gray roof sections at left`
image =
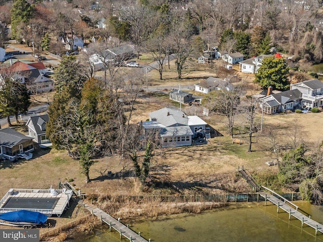
{"label": "house with red and gray roof sections at left", "polygon": [[0,74],[0,88],[5,83],[6,76],[19,80],[25,83],[29,92],[46,92],[54,88],[54,83],[51,79],[41,75],[45,69],[42,63],[27,64],[20,61],[12,64],[2,74]]}

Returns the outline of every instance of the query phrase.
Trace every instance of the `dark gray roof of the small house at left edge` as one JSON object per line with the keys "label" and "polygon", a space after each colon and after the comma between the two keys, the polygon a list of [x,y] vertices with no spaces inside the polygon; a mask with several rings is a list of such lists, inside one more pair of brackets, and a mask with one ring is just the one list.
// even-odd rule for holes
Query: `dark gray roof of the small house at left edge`
{"label": "dark gray roof of the small house at left edge", "polygon": [[24,143],[27,140],[32,140],[32,138],[27,137],[14,129],[5,128],[0,130],[0,145],[11,148],[15,145]]}

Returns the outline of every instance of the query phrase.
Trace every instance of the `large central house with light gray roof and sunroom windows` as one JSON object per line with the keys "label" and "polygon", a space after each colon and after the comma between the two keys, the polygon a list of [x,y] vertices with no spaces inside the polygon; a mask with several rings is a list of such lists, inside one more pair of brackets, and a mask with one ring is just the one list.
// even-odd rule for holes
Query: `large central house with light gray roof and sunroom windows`
{"label": "large central house with light gray roof and sunroom windows", "polygon": [[145,133],[159,132],[163,147],[192,145],[193,139],[205,135],[207,125],[200,117],[187,116],[174,107],[165,107],[149,113],[149,121],[141,122]]}

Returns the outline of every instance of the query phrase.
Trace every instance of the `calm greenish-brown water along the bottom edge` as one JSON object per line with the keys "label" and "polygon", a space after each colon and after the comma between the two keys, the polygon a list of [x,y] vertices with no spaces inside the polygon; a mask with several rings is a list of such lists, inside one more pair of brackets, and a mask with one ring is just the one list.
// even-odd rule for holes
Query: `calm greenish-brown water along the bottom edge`
{"label": "calm greenish-brown water along the bottom edge", "polygon": [[[311,206],[306,202],[295,202],[301,209],[323,223],[323,207]],[[124,221],[124,223],[130,223]],[[141,231],[145,238],[156,242],[207,242],[207,241],[323,241],[323,235],[304,226],[277,206],[264,206],[264,203],[237,203],[221,210],[203,214],[185,214],[164,217],[163,220],[147,220],[130,224],[134,231]],[[120,241],[118,232],[109,232],[109,226],[102,226],[90,235],[75,235],[73,240],[80,242]],[[123,239],[123,241],[128,241]]]}

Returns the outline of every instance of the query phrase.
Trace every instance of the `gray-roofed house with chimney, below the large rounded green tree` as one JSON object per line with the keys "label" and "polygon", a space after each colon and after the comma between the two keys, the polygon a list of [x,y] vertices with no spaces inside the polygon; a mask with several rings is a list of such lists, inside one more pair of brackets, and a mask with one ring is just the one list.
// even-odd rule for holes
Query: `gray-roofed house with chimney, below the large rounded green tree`
{"label": "gray-roofed house with chimney, below the large rounded green tree", "polygon": [[264,113],[272,114],[293,110],[301,106],[302,93],[298,89],[271,94],[259,99]]}

